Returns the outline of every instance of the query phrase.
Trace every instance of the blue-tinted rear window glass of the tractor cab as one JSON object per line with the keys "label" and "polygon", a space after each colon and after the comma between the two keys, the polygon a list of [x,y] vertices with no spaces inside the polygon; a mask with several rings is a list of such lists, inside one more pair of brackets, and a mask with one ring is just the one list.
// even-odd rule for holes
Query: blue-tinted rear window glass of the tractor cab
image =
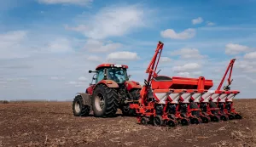
{"label": "blue-tinted rear window glass of the tractor cab", "polygon": [[128,80],[126,69],[108,68],[108,79],[117,83],[122,83]]}

